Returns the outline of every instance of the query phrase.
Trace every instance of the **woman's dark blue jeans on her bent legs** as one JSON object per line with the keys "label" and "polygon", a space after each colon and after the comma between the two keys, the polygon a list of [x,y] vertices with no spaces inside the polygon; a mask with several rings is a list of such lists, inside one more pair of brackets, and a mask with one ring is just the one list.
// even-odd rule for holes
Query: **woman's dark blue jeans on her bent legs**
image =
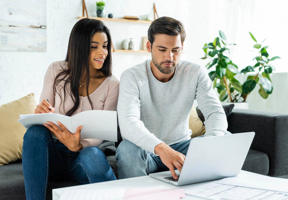
{"label": "woman's dark blue jeans on her bent legs", "polygon": [[70,151],[44,126],[30,127],[25,133],[22,167],[26,199],[45,199],[48,180],[80,184],[116,180],[101,149]]}

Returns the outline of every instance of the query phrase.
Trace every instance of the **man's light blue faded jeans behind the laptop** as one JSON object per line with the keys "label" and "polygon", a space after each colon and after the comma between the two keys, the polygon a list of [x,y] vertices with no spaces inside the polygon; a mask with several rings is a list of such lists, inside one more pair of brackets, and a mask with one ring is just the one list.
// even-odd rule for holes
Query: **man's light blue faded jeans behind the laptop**
{"label": "man's light blue faded jeans behind the laptop", "polygon": [[[226,134],[231,134],[226,132]],[[204,135],[202,135],[204,136]],[[202,137],[199,136],[199,137]],[[193,138],[192,138],[193,139]],[[190,140],[170,145],[172,149],[186,156]],[[154,172],[169,171],[160,157],[138,147],[128,140],[123,140],[116,151],[116,161],[119,179],[146,176]]]}

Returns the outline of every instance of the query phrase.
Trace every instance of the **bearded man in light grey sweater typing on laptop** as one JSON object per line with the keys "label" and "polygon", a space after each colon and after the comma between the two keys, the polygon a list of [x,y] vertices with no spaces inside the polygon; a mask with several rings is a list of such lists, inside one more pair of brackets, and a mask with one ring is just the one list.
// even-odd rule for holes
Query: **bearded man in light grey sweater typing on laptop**
{"label": "bearded man in light grey sweater typing on laptop", "polygon": [[205,116],[204,136],[226,133],[226,115],[208,74],[197,64],[179,61],[185,37],[180,21],[156,19],[146,45],[152,60],[121,75],[118,118],[124,140],[116,152],[119,178],[170,170],[177,179],[175,168],[181,172],[190,143],[194,99]]}

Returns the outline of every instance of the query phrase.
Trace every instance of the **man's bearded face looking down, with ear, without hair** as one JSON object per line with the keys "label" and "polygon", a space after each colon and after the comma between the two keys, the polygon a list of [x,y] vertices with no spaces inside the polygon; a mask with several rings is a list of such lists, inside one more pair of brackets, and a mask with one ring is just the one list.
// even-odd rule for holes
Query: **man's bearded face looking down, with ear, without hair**
{"label": "man's bearded face looking down, with ear, without hair", "polygon": [[179,63],[183,44],[180,35],[155,35],[154,43],[148,41],[147,49],[152,54],[152,62],[164,74],[170,74]]}

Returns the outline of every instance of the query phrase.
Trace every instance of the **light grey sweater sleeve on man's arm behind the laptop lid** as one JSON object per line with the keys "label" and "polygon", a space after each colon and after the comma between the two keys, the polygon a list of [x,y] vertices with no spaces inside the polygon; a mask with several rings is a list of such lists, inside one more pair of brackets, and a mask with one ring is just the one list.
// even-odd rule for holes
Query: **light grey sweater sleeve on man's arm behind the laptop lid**
{"label": "light grey sweater sleeve on man's arm behind the laptop lid", "polygon": [[199,71],[195,99],[205,117],[205,136],[224,135],[228,127],[227,118],[213,89],[213,83],[202,67]]}

